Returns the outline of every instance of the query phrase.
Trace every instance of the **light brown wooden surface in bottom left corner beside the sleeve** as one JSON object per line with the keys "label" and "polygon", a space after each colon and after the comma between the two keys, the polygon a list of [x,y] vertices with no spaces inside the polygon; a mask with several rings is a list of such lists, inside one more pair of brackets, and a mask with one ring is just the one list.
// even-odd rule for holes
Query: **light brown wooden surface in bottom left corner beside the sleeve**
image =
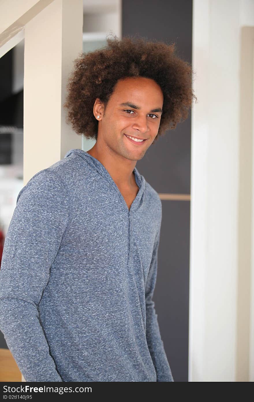
{"label": "light brown wooden surface in bottom left corner beside the sleeve", "polygon": [[0,348],[0,382],[21,381],[21,372],[9,349]]}

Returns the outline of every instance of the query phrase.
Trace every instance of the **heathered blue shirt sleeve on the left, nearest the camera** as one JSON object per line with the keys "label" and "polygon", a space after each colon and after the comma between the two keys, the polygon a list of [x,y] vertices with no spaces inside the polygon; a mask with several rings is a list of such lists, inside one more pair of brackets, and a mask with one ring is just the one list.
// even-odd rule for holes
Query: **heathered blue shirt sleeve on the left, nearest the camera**
{"label": "heathered blue shirt sleeve on the left, nearest the camera", "polygon": [[65,187],[45,169],[21,189],[0,269],[0,329],[26,381],[62,381],[38,304],[68,222]]}

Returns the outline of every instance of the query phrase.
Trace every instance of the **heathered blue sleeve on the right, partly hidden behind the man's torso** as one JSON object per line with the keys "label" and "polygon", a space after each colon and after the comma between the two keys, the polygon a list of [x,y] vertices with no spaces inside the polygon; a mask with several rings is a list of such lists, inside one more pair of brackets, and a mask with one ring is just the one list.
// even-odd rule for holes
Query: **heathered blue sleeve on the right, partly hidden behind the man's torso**
{"label": "heathered blue sleeve on the right, partly hidden behind the man's torso", "polygon": [[160,241],[161,220],[154,241],[152,260],[146,280],[146,341],[156,370],[157,381],[174,381],[158,325],[157,314],[152,301],[157,276],[158,246]]}

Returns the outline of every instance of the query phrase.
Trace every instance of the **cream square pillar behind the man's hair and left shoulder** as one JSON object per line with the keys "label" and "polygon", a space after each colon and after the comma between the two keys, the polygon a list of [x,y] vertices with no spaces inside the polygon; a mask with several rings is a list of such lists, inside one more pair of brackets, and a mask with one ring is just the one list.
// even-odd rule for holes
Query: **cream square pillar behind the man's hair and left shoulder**
{"label": "cream square pillar behind the man's hair and left shoulder", "polygon": [[54,0],[25,25],[24,185],[67,150],[81,148],[63,103],[82,33],[82,0]]}

